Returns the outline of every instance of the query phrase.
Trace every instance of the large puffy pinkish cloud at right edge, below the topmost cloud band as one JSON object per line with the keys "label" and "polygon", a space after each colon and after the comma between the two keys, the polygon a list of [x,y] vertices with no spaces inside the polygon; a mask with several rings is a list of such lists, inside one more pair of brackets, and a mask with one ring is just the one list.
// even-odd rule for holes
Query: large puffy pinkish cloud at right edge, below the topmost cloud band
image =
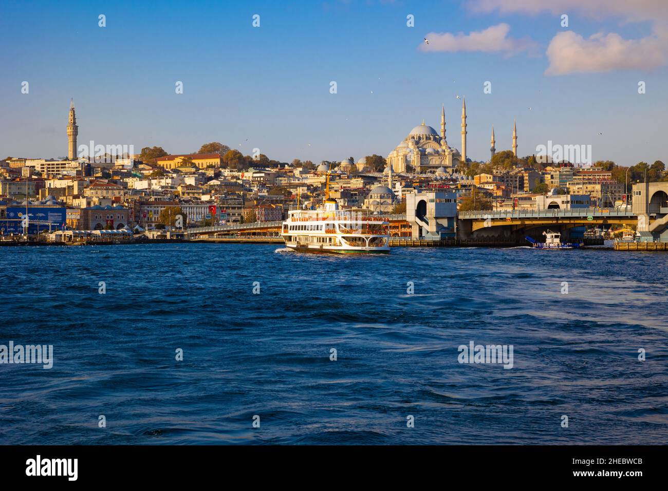
{"label": "large puffy pinkish cloud at right edge, below the topmost cloud band", "polygon": [[617,69],[654,69],[665,65],[666,40],[657,36],[624,39],[619,34],[597,33],[587,39],[572,31],[558,33],[550,41],[546,75],[597,73]]}

